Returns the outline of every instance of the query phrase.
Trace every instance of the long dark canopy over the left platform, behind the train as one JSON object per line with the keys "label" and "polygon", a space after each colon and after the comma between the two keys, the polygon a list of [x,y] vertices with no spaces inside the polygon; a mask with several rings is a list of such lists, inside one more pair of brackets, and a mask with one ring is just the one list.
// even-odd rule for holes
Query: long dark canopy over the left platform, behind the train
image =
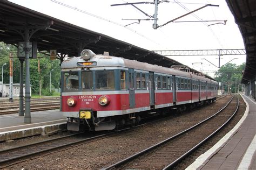
{"label": "long dark canopy over the left platform, behind the train", "polygon": [[96,54],[103,54],[106,51],[110,55],[164,67],[182,65],[180,62],[166,56],[124,41],[63,22],[15,3],[1,1],[0,41],[17,45],[19,41],[23,41],[21,34],[18,32],[22,32],[23,27],[39,29],[30,38],[30,41],[37,41],[38,51],[49,52],[50,49],[57,49],[57,53],[77,56],[80,55],[82,49],[87,48]]}

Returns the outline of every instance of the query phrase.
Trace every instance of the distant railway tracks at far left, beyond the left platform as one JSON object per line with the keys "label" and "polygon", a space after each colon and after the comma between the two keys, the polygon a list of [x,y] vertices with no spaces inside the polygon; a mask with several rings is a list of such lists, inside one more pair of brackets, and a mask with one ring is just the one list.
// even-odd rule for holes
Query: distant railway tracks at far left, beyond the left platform
{"label": "distant railway tracks at far left, beyond the left platform", "polygon": [[[59,97],[33,98],[31,100],[30,107],[31,107],[31,111],[59,109],[60,99]],[[25,104],[24,104],[24,109],[25,109]],[[9,102],[7,100],[0,100],[0,115],[17,114],[18,112],[19,112],[18,99],[16,99],[16,101],[14,102]]]}

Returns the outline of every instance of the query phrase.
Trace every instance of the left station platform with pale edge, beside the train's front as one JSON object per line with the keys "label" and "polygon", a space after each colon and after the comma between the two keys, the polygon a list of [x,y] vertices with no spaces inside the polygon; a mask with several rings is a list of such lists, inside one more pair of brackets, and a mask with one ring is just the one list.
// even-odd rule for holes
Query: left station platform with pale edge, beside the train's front
{"label": "left station platform with pale edge, beside the train's front", "polygon": [[31,112],[30,124],[18,114],[0,116],[0,141],[50,134],[66,129],[66,117],[58,110]]}

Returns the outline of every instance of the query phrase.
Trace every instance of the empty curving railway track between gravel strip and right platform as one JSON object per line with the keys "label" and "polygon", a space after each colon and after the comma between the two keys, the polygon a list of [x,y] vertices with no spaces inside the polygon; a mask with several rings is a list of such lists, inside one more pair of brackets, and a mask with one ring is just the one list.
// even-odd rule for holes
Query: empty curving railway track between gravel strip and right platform
{"label": "empty curving railway track between gravel strip and right platform", "polygon": [[235,103],[232,97],[225,107],[204,121],[104,169],[174,168],[232,119],[239,100]]}

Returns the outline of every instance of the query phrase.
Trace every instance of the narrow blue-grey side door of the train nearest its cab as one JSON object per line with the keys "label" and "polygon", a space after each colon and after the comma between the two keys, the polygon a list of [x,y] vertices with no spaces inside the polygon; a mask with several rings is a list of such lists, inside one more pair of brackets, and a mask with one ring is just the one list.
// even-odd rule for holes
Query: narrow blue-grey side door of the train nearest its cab
{"label": "narrow blue-grey side door of the train nearest its cab", "polygon": [[129,101],[130,108],[135,107],[135,90],[134,90],[134,69],[129,68]]}

